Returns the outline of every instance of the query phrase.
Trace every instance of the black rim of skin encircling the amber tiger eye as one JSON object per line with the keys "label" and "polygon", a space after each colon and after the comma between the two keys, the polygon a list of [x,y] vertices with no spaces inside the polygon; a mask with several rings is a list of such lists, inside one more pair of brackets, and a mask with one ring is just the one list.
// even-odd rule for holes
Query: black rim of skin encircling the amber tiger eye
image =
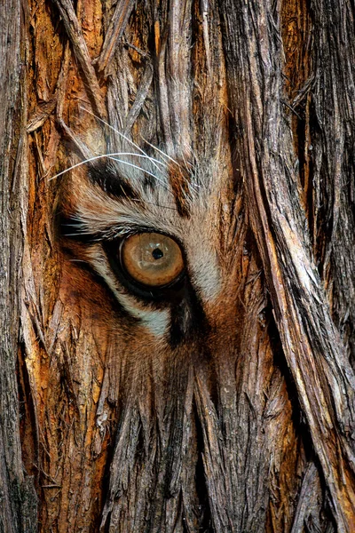
{"label": "black rim of skin encircling the amber tiger eye", "polygon": [[[177,243],[177,246],[179,247],[181,251],[181,255],[183,258],[184,267],[181,270],[179,274],[177,274],[177,277],[172,280],[169,283],[166,283],[165,285],[145,285],[144,283],[140,283],[137,280],[135,280],[130,273],[127,271],[126,267],[124,266],[124,262],[122,260],[122,248],[124,243],[132,236],[132,235],[140,235],[140,234],[148,234],[148,233],[154,233],[158,235],[164,235],[168,238],[170,238],[174,243]],[[169,235],[168,233],[158,231],[154,228],[139,228],[138,230],[134,232],[130,232],[129,234],[123,235],[122,237],[115,238],[111,241],[108,241],[106,243],[103,243],[103,248],[106,251],[107,259],[110,263],[110,267],[114,271],[115,276],[117,277],[118,281],[122,283],[122,285],[127,289],[130,290],[132,294],[137,296],[138,298],[141,298],[146,301],[162,301],[162,300],[175,300],[175,299],[181,299],[182,292],[185,288],[185,280],[186,280],[186,259],[185,259],[185,251],[182,244],[177,240],[175,236]]]}

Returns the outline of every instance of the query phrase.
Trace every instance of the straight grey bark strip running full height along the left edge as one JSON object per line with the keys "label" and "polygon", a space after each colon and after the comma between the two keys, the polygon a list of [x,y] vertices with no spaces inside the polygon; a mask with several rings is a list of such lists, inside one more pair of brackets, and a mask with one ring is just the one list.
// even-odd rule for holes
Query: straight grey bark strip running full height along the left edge
{"label": "straight grey bark strip running full height along the left edge", "polygon": [[[26,94],[23,6],[0,12],[0,531],[36,531],[36,495],[23,472],[16,378],[19,335],[20,228],[26,198]],[[26,10],[25,10],[26,11]],[[22,41],[23,43],[23,41]],[[23,213],[22,213],[23,214]]]}

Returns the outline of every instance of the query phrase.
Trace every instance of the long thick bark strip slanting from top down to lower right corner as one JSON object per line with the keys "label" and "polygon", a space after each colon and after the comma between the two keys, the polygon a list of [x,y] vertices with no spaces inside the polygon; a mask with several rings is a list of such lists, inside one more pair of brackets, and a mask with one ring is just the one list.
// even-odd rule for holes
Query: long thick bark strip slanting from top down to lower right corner
{"label": "long thick bark strip slanting from top down to lower right corner", "polygon": [[242,155],[249,217],[288,368],[329,489],[337,528],[351,531],[355,521],[355,382],[297,201],[291,131],[280,100],[280,19],[268,2],[225,2],[221,11],[231,104],[241,132],[236,144]]}

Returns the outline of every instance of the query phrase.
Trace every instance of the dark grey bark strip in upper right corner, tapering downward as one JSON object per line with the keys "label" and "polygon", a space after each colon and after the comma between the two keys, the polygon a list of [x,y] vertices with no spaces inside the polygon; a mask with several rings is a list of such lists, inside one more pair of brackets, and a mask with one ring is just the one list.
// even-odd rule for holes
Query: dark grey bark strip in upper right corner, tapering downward
{"label": "dark grey bark strip in upper right corner, tapering downward", "polygon": [[335,324],[355,362],[355,41],[351,2],[311,3],[312,235]]}

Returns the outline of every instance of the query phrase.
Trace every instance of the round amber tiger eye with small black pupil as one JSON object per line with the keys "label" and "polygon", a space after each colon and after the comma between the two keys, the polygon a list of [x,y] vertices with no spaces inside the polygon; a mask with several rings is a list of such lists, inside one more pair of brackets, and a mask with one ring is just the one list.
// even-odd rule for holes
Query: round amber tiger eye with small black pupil
{"label": "round amber tiger eye with small black pupil", "polygon": [[178,244],[158,233],[141,233],[125,239],[121,261],[134,281],[150,287],[169,285],[184,269]]}

